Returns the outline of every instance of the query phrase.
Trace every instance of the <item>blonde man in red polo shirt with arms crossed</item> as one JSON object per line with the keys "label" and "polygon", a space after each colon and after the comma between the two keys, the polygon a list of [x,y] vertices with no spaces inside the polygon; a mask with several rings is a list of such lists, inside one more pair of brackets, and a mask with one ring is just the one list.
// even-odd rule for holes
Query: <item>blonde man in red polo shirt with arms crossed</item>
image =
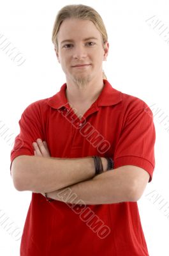
{"label": "blonde man in red polo shirt with arms crossed", "polygon": [[33,192],[20,255],[147,256],[136,201],[154,171],[152,112],[104,78],[94,9],[64,6],[52,42],[66,83],[25,109],[11,152],[15,188]]}

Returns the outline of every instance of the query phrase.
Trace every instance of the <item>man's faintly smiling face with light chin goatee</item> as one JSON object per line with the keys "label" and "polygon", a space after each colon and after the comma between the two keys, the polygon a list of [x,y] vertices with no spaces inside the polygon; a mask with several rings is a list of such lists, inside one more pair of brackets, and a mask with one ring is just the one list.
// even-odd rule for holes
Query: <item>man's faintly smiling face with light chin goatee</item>
{"label": "man's faintly smiling face with light chin goatee", "polygon": [[57,34],[57,60],[66,81],[84,88],[92,79],[102,77],[108,42],[103,49],[101,33],[91,20],[66,19]]}

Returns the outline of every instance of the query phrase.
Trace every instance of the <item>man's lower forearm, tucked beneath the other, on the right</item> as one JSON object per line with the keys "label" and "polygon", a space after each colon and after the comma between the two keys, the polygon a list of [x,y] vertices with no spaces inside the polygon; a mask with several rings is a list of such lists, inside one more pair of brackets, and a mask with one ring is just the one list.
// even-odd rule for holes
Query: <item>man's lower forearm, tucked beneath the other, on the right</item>
{"label": "man's lower forearm, tucked beneath the other, on the right", "polygon": [[114,204],[131,201],[132,188],[126,172],[117,168],[47,195],[71,204]]}

